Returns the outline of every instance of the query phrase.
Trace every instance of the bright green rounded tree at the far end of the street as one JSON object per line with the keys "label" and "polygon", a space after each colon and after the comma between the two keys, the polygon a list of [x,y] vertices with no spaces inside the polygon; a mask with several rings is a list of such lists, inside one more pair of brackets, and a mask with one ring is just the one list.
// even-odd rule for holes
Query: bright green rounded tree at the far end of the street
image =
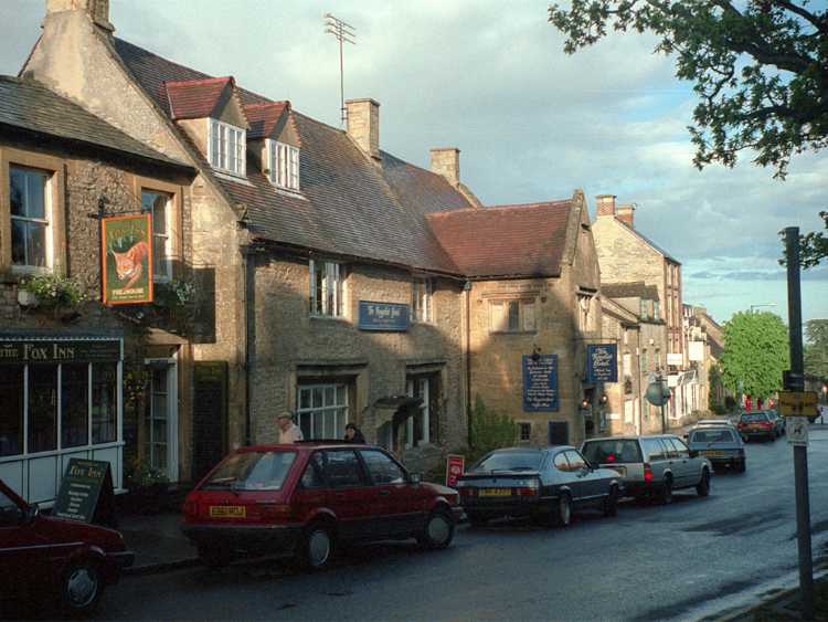
{"label": "bright green rounded tree at the far end of the street", "polygon": [[767,398],[789,368],[788,329],[778,315],[742,312],[724,323],[722,383],[733,392]]}

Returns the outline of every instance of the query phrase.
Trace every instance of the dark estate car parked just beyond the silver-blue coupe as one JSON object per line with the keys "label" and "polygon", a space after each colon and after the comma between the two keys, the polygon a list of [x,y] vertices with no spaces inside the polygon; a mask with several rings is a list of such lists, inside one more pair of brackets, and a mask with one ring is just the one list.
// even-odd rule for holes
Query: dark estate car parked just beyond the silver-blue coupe
{"label": "dark estate car parked just beyond the silver-blue coupe", "polygon": [[627,494],[637,498],[669,504],[673,491],[692,487],[700,497],[710,494],[710,461],[672,434],[588,439],[581,452],[592,464],[617,471]]}

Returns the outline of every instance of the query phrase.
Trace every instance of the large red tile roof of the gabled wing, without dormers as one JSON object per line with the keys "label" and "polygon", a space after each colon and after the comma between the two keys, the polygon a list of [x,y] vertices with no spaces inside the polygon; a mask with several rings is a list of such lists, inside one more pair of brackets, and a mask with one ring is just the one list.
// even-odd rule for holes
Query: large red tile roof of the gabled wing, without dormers
{"label": "large red tile roof of the gabled wing, without dormers", "polygon": [[429,213],[426,220],[461,273],[560,276],[572,201]]}

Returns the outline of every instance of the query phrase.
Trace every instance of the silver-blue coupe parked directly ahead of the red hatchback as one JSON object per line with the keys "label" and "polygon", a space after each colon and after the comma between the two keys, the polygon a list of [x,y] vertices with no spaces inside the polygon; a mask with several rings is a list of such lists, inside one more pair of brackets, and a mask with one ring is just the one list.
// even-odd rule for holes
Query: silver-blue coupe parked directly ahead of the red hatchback
{"label": "silver-blue coupe parked directly ahead of the red hatchback", "polygon": [[496,450],[458,478],[457,489],[471,525],[531,516],[565,527],[573,510],[597,507],[615,516],[623,494],[615,471],[593,468],[569,445]]}

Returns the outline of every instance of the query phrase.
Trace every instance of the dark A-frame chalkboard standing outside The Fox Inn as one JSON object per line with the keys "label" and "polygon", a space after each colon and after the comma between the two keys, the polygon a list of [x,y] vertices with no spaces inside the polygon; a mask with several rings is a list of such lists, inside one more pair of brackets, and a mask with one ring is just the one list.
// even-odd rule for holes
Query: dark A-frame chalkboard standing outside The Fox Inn
{"label": "dark A-frame chalkboard standing outside The Fox Inn", "polygon": [[83,523],[107,523],[112,519],[113,497],[109,463],[73,457],[63,475],[52,514]]}

